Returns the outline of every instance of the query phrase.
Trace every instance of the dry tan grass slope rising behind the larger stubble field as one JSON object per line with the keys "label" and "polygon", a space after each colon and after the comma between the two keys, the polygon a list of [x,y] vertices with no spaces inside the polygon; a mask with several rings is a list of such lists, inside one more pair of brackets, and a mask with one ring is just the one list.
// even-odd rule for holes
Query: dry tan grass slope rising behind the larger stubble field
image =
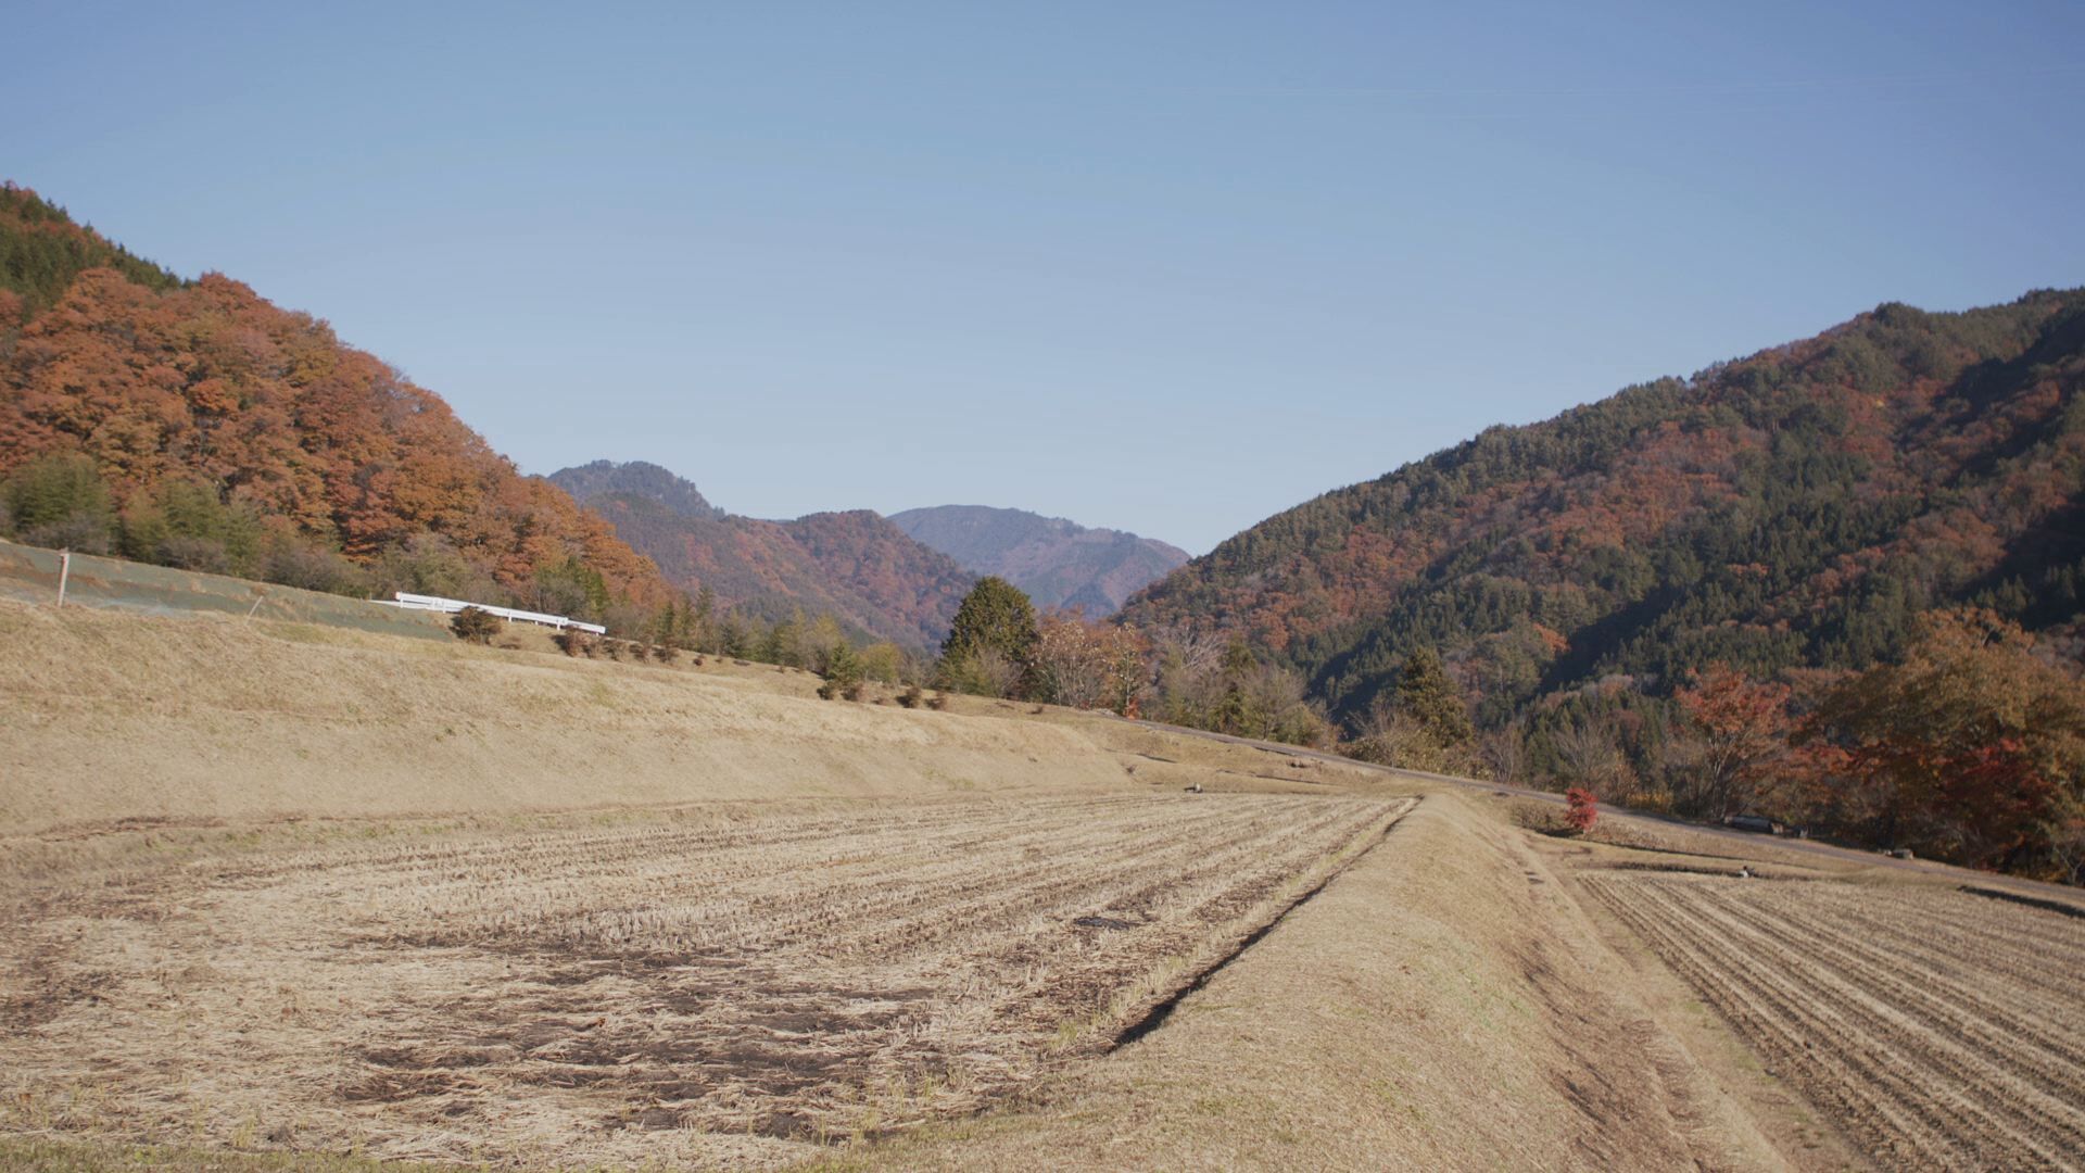
{"label": "dry tan grass slope rising behind the larger stubble field", "polygon": [[0,837],[1132,785],[1078,728],[819,701],[807,672],[715,660],[8,601],[0,647]]}

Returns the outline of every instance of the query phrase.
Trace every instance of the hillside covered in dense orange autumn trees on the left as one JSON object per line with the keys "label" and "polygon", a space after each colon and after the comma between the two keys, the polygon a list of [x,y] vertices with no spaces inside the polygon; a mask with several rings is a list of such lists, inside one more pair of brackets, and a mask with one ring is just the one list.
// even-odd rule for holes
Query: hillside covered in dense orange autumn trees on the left
{"label": "hillside covered in dense orange autumn trees on the left", "polygon": [[659,570],[319,319],[0,188],[0,532],[344,593],[607,616]]}

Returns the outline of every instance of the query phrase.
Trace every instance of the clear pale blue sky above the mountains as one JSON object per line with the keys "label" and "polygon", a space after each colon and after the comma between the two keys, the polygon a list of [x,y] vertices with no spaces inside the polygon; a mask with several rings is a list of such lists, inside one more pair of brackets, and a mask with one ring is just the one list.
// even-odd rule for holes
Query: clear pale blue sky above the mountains
{"label": "clear pale blue sky above the mountains", "polygon": [[2085,284],[2077,2],[8,8],[0,173],[525,472],[755,516],[1201,553],[1883,301]]}

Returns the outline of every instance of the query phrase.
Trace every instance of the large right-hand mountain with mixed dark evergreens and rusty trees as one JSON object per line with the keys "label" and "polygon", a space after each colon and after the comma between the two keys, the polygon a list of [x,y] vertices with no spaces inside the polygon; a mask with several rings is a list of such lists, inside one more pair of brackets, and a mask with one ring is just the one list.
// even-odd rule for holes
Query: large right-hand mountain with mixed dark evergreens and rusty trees
{"label": "large right-hand mountain with mixed dark evergreens and rusty trees", "polygon": [[[1437,647],[1485,726],[1695,668],[1866,668],[1974,603],[2075,660],[2085,290],[1633,386],[1274,516],[1124,609],[1234,632],[1355,722]],[[1605,701],[1603,701],[1605,703]]]}

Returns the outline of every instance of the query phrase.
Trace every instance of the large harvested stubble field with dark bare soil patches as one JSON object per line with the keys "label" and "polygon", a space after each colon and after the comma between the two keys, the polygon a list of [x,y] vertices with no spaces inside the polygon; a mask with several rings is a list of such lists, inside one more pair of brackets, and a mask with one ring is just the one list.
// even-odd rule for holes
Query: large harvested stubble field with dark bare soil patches
{"label": "large harvested stubble field with dark bare soil patches", "polygon": [[1107,1050],[1409,799],[717,804],[10,883],[0,1129],[761,1165]]}

